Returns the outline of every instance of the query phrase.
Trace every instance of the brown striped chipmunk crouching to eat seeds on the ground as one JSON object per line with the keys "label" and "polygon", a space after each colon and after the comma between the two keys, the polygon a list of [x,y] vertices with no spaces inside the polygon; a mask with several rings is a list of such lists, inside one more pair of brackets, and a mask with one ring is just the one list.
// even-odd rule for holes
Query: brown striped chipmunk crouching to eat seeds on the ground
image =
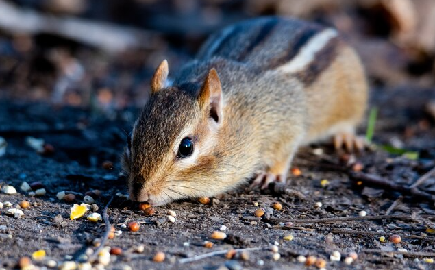
{"label": "brown striped chipmunk crouching to eat seeds on the ground", "polygon": [[355,134],[364,69],[335,29],[264,17],[213,34],[168,79],[164,60],[123,154],[130,199],[154,206],[212,197],[255,178],[284,182],[301,145]]}

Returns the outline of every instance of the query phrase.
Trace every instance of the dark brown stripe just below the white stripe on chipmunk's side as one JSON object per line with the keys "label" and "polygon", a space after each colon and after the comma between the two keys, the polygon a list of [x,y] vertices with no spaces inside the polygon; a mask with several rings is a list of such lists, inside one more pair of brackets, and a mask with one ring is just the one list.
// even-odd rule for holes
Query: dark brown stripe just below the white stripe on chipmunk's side
{"label": "dark brown stripe just below the white stripe on chipmunk's side", "polygon": [[337,47],[340,47],[340,38],[332,38],[321,51],[316,53],[314,61],[306,69],[296,73],[296,77],[306,86],[310,86],[334,62],[334,58],[337,56]]}

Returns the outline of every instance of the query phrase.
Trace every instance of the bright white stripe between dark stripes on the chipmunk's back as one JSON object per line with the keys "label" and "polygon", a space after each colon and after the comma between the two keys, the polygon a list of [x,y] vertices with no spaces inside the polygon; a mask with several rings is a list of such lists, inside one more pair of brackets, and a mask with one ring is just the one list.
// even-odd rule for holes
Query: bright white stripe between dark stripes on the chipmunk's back
{"label": "bright white stripe between dark stripes on the chipmunk's back", "polygon": [[276,70],[283,73],[296,73],[303,71],[308,64],[314,60],[316,53],[321,51],[325,45],[337,36],[337,32],[334,29],[325,29],[319,34],[312,37],[306,45],[304,45],[299,53],[290,62],[279,66]]}

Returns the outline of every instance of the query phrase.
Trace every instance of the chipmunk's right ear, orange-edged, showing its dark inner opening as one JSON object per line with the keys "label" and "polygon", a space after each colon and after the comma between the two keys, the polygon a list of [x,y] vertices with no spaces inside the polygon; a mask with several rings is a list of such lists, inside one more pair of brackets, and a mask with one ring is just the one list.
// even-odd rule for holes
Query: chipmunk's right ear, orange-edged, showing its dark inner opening
{"label": "chipmunk's right ear, orange-edged, showing its dark inner opening", "polygon": [[222,122],[222,85],[216,69],[210,69],[198,96],[201,108],[209,110],[210,118]]}

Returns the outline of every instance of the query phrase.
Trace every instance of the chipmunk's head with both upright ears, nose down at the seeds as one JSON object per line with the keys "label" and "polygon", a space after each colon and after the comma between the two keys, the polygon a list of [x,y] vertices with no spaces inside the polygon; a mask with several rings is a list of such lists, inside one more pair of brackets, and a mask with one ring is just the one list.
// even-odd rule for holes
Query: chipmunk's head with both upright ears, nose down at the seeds
{"label": "chipmunk's head with both upright ears, nose down at the seeds", "polygon": [[[123,169],[133,201],[153,205],[210,195],[216,136],[223,123],[221,82],[211,69],[202,84],[165,87],[166,60],[128,138]],[[217,180],[216,180],[217,181]]]}

